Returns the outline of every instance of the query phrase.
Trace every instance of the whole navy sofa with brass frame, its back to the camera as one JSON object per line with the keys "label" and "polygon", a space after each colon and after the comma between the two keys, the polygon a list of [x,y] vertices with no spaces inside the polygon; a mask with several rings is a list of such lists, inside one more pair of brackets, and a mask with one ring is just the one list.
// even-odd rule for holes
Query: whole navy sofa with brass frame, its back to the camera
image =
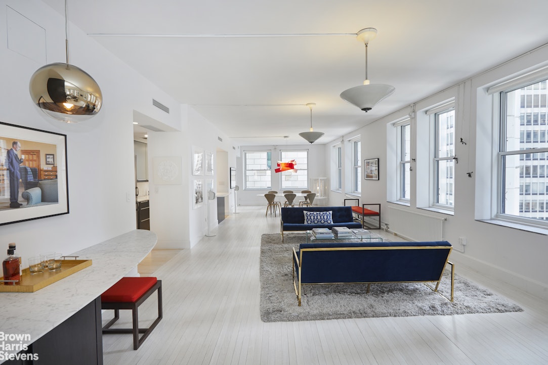
{"label": "whole navy sofa with brass frame, its back to the camera", "polygon": [[[437,292],[446,265],[451,265],[453,302],[453,247],[436,242],[332,242],[293,247],[293,285],[299,306],[302,285],[320,283],[436,282]],[[439,293],[438,293],[439,294]],[[441,295],[441,294],[439,294]]]}

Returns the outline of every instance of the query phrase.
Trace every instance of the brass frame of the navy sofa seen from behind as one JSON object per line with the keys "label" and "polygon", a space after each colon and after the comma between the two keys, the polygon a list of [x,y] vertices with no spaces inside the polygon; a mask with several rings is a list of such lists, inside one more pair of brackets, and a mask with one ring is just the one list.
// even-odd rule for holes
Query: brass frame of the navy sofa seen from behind
{"label": "brass frame of the navy sofa seen from behind", "polygon": [[[359,281],[359,282],[317,282],[317,283],[301,283],[301,274],[302,274],[302,253],[306,251],[370,251],[370,250],[436,250],[436,249],[444,249],[449,250],[447,254],[446,262],[443,265],[443,268],[441,270],[441,275],[439,276],[438,280],[429,280],[429,281],[375,281],[375,282],[368,282],[368,281]],[[439,296],[447,299],[449,302],[453,302],[453,292],[454,292],[454,286],[455,286],[455,265],[449,261],[449,256],[451,251],[453,250],[452,246],[391,246],[391,247],[383,247],[383,246],[364,246],[364,247],[319,247],[319,248],[302,248],[299,250],[299,255],[297,255],[295,251],[295,247],[293,247],[293,257],[292,257],[292,274],[293,274],[293,287],[295,288],[295,294],[297,296],[297,302],[299,306],[301,306],[301,296],[302,296],[302,286],[303,285],[323,285],[323,284],[367,284],[367,293],[369,293],[369,287],[371,284],[377,284],[377,283],[397,283],[397,282],[421,282],[424,283],[424,285],[428,288],[430,288],[433,292],[437,293]],[[298,263],[298,268],[295,268],[295,260]],[[447,298],[443,296],[443,294],[438,292],[439,283],[442,280],[443,272],[447,266],[447,264],[451,265],[451,295],[450,298]],[[296,281],[295,278],[295,270],[299,270],[299,280]],[[431,287],[427,283],[436,283],[435,287]]]}

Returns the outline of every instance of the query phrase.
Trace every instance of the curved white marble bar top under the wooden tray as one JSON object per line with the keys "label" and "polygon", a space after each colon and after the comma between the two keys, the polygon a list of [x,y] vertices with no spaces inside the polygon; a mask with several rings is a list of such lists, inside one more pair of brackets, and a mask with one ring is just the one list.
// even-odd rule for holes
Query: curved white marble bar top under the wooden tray
{"label": "curved white marble bar top under the wooden tray", "polygon": [[33,343],[129,273],[156,241],[155,233],[135,229],[71,253],[79,260],[92,259],[92,265],[52,285],[34,293],[0,293],[0,332],[30,334],[31,340],[23,343]]}

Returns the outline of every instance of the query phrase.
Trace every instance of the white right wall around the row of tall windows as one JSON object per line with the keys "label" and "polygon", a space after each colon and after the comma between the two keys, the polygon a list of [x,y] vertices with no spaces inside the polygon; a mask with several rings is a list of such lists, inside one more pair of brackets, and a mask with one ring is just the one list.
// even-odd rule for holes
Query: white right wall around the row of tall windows
{"label": "white right wall around the row of tall windows", "polygon": [[[485,172],[484,170],[488,168],[486,166],[490,166],[493,154],[490,152],[490,147],[486,150],[485,144],[490,143],[489,140],[494,138],[490,135],[492,134],[492,128],[489,127],[491,121],[484,120],[485,115],[490,113],[493,106],[479,94],[482,93],[481,90],[484,85],[494,83],[496,80],[520,72],[523,69],[535,67],[535,65],[545,65],[547,59],[548,47],[533,50],[516,60],[504,63],[501,67],[471,77],[453,88],[417,101],[415,105],[416,110],[420,111],[420,109],[435,105],[448,97],[456,97],[455,154],[459,158],[459,163],[455,165],[454,215],[428,212],[433,216],[447,217],[447,221],[444,222],[444,239],[452,242],[456,249],[461,250],[462,248],[458,244],[459,237],[466,237],[467,239],[465,253],[453,250],[450,259],[456,264],[465,264],[479,273],[495,277],[545,299],[548,299],[548,271],[545,265],[545,258],[548,256],[547,236],[477,221],[476,219],[485,217],[476,217],[476,212],[484,212],[482,204],[490,204],[490,199],[486,199],[485,195],[490,196],[491,172]],[[479,94],[477,94],[478,88],[480,90]],[[487,105],[477,104],[477,100],[480,103],[487,103]],[[481,114],[477,114],[478,105]],[[366,158],[380,158],[380,179],[379,181],[362,179],[361,202],[380,202],[384,212],[383,222],[390,223],[386,208],[393,205],[393,203],[387,202],[387,186],[391,186],[390,182],[396,176],[395,171],[393,171],[393,169],[396,169],[395,164],[390,162],[387,164],[387,159],[393,159],[394,155],[393,151],[387,148],[387,130],[390,133],[390,138],[395,138],[395,133],[391,132],[393,127],[387,126],[387,124],[404,117],[410,110],[410,107],[403,108],[401,111],[387,115],[345,136],[346,140],[350,136],[361,135],[362,161]],[[417,137],[417,114],[419,113],[416,113],[415,118],[411,120],[412,129],[414,129],[412,131],[412,140],[416,140]],[[477,138],[478,131],[481,131],[482,138]],[[419,140],[422,137],[419,131]],[[466,144],[460,143],[461,137]],[[326,144],[326,161],[329,161],[331,156],[330,146],[338,142],[333,141]],[[412,158],[419,158],[421,150],[423,148],[420,142],[419,146],[415,146],[412,142]],[[428,188],[423,180],[419,179],[417,181],[416,176],[424,173],[426,167],[421,165],[419,160],[416,165],[412,165],[414,166],[411,175],[412,198],[408,209],[424,213],[424,209],[416,207],[416,201],[419,198],[419,206],[421,206],[420,200],[424,198],[424,195],[427,195],[425,189]],[[387,173],[387,169],[391,170],[388,170]],[[481,171],[478,171],[478,169]],[[473,171],[472,177],[467,176],[467,172],[470,171]],[[330,199],[337,204],[339,201],[342,203],[342,195],[330,192]],[[393,194],[390,196],[393,196]],[[456,268],[458,273],[458,266]]]}

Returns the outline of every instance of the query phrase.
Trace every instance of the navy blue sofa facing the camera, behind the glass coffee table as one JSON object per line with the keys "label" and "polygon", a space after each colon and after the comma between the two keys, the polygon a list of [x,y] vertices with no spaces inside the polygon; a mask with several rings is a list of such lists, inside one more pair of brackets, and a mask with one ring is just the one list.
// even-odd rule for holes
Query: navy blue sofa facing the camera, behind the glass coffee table
{"label": "navy blue sofa facing the camera, behind the glass coffee table", "polygon": [[[305,224],[304,212],[326,212],[332,211],[333,223],[330,224]],[[284,231],[305,231],[312,228],[329,228],[333,227],[348,227],[348,228],[362,228],[360,222],[354,222],[352,217],[352,207],[349,206],[337,206],[337,207],[287,207],[282,208],[282,214],[280,218],[280,233]]]}

